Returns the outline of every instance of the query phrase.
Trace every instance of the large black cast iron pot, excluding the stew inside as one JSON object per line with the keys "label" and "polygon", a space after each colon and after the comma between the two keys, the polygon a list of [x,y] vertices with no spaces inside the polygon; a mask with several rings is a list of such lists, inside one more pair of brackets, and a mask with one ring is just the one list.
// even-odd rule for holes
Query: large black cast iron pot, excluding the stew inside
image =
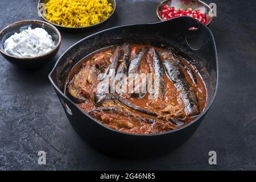
{"label": "large black cast iron pot, excluding the stew inside", "polygon": [[[188,29],[197,27],[202,46],[192,49],[188,43]],[[207,86],[207,105],[195,120],[177,130],[159,134],[127,134],[110,129],[90,117],[64,94],[65,81],[72,67],[89,53],[113,44],[142,43],[156,47],[174,47],[196,65]],[[199,21],[180,17],[166,22],[135,24],[110,28],[90,35],[63,53],[49,74],[57,96],[73,128],[86,142],[106,154],[126,157],[156,155],[183,144],[203,121],[216,96],[218,86],[217,52],[212,32]]]}

